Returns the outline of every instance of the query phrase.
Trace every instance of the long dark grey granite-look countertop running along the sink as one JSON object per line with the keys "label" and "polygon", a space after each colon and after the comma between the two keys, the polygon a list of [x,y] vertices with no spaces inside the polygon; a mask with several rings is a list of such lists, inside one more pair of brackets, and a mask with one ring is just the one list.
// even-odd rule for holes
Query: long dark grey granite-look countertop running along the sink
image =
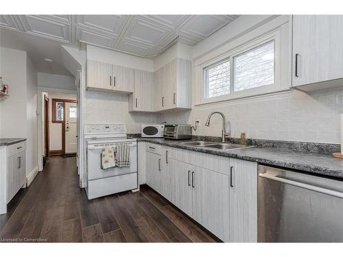
{"label": "long dark grey granite-look countertop running along the sink", "polygon": [[181,144],[193,140],[170,140],[164,138],[137,138],[139,141],[178,147],[192,151],[200,151],[218,156],[250,160],[260,164],[296,169],[320,175],[343,178],[343,160],[333,158],[330,154],[314,154],[292,149],[277,149],[272,147],[245,147],[240,149],[221,150],[208,147],[193,147]]}

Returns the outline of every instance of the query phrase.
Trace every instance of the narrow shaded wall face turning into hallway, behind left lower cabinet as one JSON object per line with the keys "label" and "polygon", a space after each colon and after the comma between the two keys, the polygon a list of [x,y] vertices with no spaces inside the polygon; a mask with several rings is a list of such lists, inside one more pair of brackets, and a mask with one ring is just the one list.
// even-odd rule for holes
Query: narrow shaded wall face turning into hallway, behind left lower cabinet
{"label": "narrow shaded wall face turning into hallway, behind left lower cabinet", "polygon": [[38,171],[37,140],[37,71],[27,56],[27,94],[26,94],[26,174]]}

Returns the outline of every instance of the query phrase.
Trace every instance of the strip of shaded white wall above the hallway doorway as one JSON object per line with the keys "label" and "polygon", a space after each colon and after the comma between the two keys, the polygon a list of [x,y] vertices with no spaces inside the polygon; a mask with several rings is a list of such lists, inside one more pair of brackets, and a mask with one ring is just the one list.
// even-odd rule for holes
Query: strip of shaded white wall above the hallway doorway
{"label": "strip of shaded white wall above the hallway doorway", "polygon": [[76,90],[75,77],[38,72],[38,86]]}

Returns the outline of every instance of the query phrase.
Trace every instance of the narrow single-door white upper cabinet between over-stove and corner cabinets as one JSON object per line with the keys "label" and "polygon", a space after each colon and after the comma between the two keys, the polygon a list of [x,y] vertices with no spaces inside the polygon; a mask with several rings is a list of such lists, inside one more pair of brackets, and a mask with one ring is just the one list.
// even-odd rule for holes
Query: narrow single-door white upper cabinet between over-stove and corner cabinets
{"label": "narrow single-door white upper cabinet between over-stove and corner cabinets", "polygon": [[133,93],[129,95],[129,111],[154,111],[154,73],[134,70]]}

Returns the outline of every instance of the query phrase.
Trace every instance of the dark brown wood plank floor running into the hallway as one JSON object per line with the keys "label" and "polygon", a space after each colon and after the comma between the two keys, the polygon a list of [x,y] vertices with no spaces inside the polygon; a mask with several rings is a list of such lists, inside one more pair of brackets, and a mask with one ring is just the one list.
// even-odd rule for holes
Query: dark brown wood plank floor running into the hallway
{"label": "dark brown wood plank floor running into the hallway", "polygon": [[49,158],[0,215],[1,242],[215,242],[148,186],[89,201],[75,162]]}

